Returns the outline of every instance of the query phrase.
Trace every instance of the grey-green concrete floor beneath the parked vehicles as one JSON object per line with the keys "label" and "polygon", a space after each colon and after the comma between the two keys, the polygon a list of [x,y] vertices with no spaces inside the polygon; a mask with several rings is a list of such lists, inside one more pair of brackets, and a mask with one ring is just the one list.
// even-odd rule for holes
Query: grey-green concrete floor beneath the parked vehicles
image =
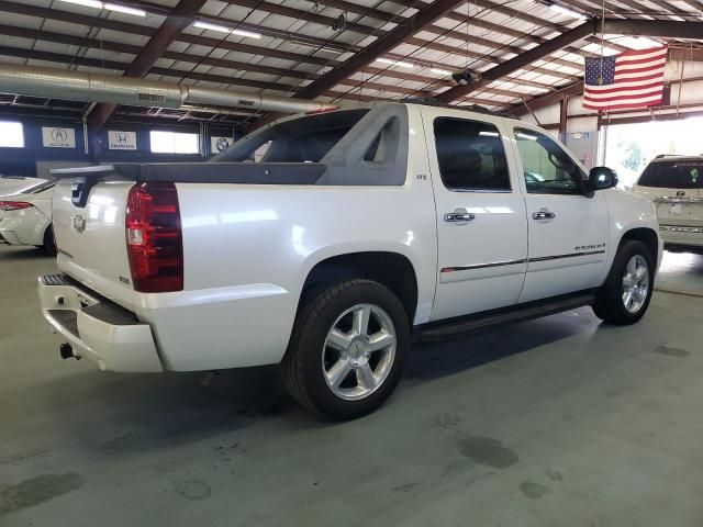
{"label": "grey-green concrete floor beneath the parked vehicles", "polygon": [[[34,292],[53,269],[0,247],[2,527],[703,525],[703,298],[417,346],[389,404],[328,424],[275,368],[202,385],[60,360]],[[703,291],[703,257],[665,269]]]}

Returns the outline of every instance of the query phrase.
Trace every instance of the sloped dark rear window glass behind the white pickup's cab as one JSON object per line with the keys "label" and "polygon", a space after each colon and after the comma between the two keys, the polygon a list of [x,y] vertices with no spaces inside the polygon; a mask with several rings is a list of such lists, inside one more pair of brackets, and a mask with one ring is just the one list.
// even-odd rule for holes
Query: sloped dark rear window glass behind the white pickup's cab
{"label": "sloped dark rear window glass behind the white pickup's cab", "polygon": [[254,132],[210,162],[320,162],[368,109],[304,115]]}

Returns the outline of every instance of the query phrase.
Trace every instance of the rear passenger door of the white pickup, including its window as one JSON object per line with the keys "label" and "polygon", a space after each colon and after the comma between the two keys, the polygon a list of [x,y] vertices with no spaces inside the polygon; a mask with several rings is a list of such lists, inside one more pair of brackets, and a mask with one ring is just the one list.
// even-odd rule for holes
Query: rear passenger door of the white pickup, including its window
{"label": "rear passenger door of the white pickup, including its window", "polygon": [[527,226],[503,120],[432,106],[422,115],[437,211],[432,319],[512,305],[525,278]]}

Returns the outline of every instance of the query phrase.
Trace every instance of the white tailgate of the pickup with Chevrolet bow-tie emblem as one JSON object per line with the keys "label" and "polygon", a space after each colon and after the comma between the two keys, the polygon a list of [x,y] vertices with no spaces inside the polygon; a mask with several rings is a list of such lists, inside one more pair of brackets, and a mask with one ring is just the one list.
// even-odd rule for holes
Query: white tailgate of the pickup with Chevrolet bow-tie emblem
{"label": "white tailgate of the pickup with Chevrolet bow-tie emblem", "polygon": [[58,268],[132,310],[134,290],[125,243],[125,209],[134,181],[97,182],[85,197],[85,204],[75,203],[77,184],[64,179],[54,190]]}

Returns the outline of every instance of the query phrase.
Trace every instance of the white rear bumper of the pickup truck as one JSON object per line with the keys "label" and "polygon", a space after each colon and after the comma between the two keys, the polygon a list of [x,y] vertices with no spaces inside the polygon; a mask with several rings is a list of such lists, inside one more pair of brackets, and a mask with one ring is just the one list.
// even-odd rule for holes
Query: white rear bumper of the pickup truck
{"label": "white rear bumper of the pickup truck", "polygon": [[74,348],[101,370],[164,371],[152,328],[133,313],[63,274],[40,277],[42,313]]}

